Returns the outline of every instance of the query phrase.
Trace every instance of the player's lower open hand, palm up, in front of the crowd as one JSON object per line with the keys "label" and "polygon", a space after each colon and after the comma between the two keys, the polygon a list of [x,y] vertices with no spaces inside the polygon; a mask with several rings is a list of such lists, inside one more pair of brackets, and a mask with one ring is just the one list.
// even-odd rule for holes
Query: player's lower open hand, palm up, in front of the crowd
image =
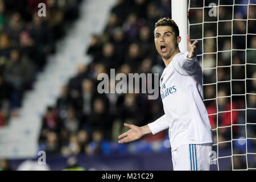
{"label": "player's lower open hand, palm up, in front of the crowd", "polygon": [[[130,127],[129,131],[126,131],[125,133],[121,134],[118,136],[118,143],[126,143],[126,142],[131,142],[134,140],[137,140],[143,136],[143,131],[141,127],[135,126],[135,125],[129,125],[129,124],[124,124],[126,127]],[[123,138],[124,137],[124,138]]]}

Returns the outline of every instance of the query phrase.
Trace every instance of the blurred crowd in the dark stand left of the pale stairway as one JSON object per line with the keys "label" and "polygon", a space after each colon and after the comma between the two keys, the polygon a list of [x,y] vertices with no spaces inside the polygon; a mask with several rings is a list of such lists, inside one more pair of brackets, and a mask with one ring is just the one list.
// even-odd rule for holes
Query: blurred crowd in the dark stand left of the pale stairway
{"label": "blurred crowd in the dark stand left of the pale stairway", "polygon": [[[0,0],[0,126],[22,106],[56,41],[79,16],[81,0]],[[47,16],[38,15],[39,3]]]}

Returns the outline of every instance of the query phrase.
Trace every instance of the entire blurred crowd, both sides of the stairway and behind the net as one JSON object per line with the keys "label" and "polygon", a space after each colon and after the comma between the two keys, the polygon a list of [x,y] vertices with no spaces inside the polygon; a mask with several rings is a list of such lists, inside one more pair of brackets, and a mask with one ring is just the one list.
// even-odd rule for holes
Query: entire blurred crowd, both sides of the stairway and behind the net
{"label": "entire blurred crowd, both sides of the stairway and behind the net", "polygon": [[[50,12],[46,18],[39,18],[36,2],[15,1],[14,6],[14,0],[0,1],[0,125],[5,124],[12,108],[20,106],[24,90],[32,88],[47,56],[56,51],[56,40],[78,16],[78,0],[45,0]],[[200,3],[191,1],[191,7],[203,7]],[[218,23],[216,17],[203,17],[203,9],[189,11],[191,38],[199,39],[199,55],[203,50],[207,53],[198,57],[204,71],[205,106],[212,129],[222,127],[213,130],[214,143],[256,137],[255,125],[249,124],[256,121],[255,111],[250,109],[256,107],[256,36],[245,35],[256,34],[255,20],[232,23],[230,18],[234,14],[235,19],[255,19],[256,11],[255,6],[249,7],[249,14],[243,6],[232,10],[220,7],[219,19],[226,21]],[[78,65],[76,76],[62,86],[56,104],[47,107],[40,150],[64,156],[109,154],[109,141],[116,142],[118,135],[127,131],[123,123],[143,126],[164,114],[161,97],[148,100],[147,94],[99,94],[97,76],[109,74],[110,68],[116,74],[161,74],[164,64],[155,50],[153,31],[155,22],[165,16],[171,17],[171,0],[117,0],[104,32],[93,34],[85,50],[92,61]],[[208,23],[203,26],[200,23],[204,21]],[[216,38],[218,35],[224,36]],[[245,122],[247,127],[230,127],[231,123]],[[166,137],[163,131],[143,139]],[[228,144],[220,147],[227,148]],[[239,145],[237,150],[242,150]]]}

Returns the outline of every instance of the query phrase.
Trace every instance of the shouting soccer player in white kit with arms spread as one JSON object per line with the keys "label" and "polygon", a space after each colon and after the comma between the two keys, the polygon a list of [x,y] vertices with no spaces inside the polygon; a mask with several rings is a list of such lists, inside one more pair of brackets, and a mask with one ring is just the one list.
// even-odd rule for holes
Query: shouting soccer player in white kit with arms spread
{"label": "shouting soccer player in white kit with arms spread", "polygon": [[130,130],[119,135],[118,143],[131,142],[145,134],[169,129],[174,170],[210,170],[212,131],[203,102],[203,72],[196,57],[197,40],[180,52],[179,28],[170,18],[155,24],[155,47],[166,68],[160,78],[164,115],[146,126],[124,124]]}

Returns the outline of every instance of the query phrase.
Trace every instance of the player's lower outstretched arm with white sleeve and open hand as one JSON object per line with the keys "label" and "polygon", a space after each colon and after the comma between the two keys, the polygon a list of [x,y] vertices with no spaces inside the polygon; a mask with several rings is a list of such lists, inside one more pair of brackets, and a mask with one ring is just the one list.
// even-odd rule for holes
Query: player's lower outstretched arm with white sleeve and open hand
{"label": "player's lower outstretched arm with white sleeve and open hand", "polygon": [[169,123],[166,118],[166,114],[164,114],[162,117],[157,119],[156,121],[149,123],[148,125],[145,126],[135,126],[135,125],[129,125],[129,124],[124,124],[126,127],[130,127],[129,131],[126,131],[125,133],[119,135],[118,143],[127,143],[131,142],[137,139],[140,139],[143,135],[146,134],[156,134],[160,131],[163,131],[165,129],[168,129]]}

